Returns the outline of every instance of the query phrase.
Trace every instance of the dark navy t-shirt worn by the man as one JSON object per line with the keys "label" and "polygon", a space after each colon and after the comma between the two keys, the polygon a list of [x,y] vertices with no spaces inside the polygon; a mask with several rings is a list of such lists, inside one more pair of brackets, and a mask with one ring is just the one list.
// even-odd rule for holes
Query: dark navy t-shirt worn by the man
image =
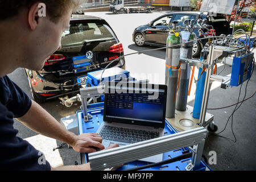
{"label": "dark navy t-shirt worn by the man", "polygon": [[13,118],[22,117],[31,107],[31,100],[9,77],[0,78],[0,169],[51,170],[42,152],[26,140],[16,137]]}

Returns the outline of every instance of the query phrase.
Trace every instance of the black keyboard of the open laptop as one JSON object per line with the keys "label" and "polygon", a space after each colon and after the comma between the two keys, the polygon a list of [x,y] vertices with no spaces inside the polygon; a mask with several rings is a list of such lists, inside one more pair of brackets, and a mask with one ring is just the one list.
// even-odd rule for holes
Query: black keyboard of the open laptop
{"label": "black keyboard of the open laptop", "polygon": [[125,129],[121,127],[104,126],[100,135],[105,140],[136,143],[159,137],[157,131],[144,131],[136,129]]}

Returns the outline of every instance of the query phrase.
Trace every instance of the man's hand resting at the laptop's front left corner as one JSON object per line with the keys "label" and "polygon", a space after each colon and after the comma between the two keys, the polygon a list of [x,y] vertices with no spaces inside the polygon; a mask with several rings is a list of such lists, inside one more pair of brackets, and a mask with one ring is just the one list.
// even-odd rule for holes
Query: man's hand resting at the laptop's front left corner
{"label": "man's hand resting at the laptop's front left corner", "polygon": [[71,146],[77,152],[92,153],[97,151],[95,148],[98,148],[99,150],[105,148],[101,142],[102,138],[97,133],[86,133],[76,136],[75,142],[73,142]]}

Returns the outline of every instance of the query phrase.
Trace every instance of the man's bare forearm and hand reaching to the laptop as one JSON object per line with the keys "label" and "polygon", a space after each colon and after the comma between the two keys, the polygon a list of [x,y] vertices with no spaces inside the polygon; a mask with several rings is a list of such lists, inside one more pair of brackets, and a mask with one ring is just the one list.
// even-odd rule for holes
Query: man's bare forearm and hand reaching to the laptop
{"label": "man's bare forearm and hand reaching to the laptop", "polygon": [[88,133],[77,136],[69,132],[34,101],[32,101],[30,110],[23,117],[17,119],[36,133],[69,144],[77,152],[96,152],[96,149],[92,147],[104,149],[100,135]]}

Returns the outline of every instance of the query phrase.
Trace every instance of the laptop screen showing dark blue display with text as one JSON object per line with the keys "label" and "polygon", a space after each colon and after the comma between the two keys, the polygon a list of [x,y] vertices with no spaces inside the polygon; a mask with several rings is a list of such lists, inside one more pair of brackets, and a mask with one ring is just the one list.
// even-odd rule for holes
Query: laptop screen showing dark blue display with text
{"label": "laptop screen showing dark blue display with text", "polygon": [[105,94],[104,121],[164,127],[166,117],[165,85],[109,86]]}

